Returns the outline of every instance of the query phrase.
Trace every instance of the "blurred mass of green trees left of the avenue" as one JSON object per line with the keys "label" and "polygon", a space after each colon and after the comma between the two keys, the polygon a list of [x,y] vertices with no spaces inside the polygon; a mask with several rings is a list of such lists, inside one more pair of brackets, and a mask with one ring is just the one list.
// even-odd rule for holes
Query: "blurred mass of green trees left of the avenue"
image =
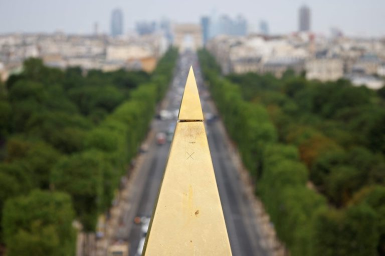
{"label": "blurred mass of green trees left of the avenue", "polygon": [[59,70],[28,59],[0,100],[0,210],[7,255],[73,255],[72,221],[95,230],[168,87],[152,74]]}

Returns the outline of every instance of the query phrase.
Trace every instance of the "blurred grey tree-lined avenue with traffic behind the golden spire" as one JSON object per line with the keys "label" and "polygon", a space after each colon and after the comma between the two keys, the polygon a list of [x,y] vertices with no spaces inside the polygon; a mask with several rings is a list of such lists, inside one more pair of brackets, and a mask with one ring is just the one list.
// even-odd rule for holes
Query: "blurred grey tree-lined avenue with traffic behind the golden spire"
{"label": "blurred grey tree-lined avenue with traffic behind the golden spire", "polygon": [[[209,102],[210,97],[207,89],[203,86],[203,78],[194,52],[185,52],[180,55],[175,69],[174,77],[169,91],[167,92],[164,109],[177,111],[179,109],[183,88],[187,78],[190,65],[193,65],[203,111],[216,113],[213,104]],[[152,130],[155,132],[166,132],[169,126],[176,123],[176,118],[169,120],[154,119]],[[242,183],[235,164],[232,162],[231,152],[220,128],[221,120],[206,124],[208,141],[213,159],[218,189],[224,210],[226,226],[229,234],[233,255],[259,255],[267,253],[260,245],[260,236],[257,232],[256,215],[252,204],[246,196],[244,184]],[[130,192],[130,207],[124,213],[124,225],[120,228],[117,238],[128,240],[130,244],[130,255],[137,255],[139,241],[143,234],[140,224],[134,224],[135,216],[151,216],[153,206],[157,197],[159,185],[165,169],[170,143],[156,144],[153,138],[148,145],[148,151],[143,155],[143,163],[134,177],[135,184]]]}

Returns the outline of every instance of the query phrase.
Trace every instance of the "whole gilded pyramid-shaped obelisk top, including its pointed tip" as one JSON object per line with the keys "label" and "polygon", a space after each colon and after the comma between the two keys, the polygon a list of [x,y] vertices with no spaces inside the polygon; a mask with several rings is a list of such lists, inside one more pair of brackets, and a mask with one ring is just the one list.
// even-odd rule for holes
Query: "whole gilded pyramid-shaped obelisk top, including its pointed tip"
{"label": "whole gilded pyramid-shaped obelisk top, including its pointed tip", "polygon": [[[194,76],[192,69],[190,75]],[[193,79],[190,80],[190,82]],[[183,104],[198,105],[189,88]],[[189,95],[190,92],[196,95]],[[199,97],[198,97],[199,100]],[[184,110],[189,109],[185,107]],[[196,110],[196,109],[195,109]],[[188,112],[180,112],[190,117]],[[193,115],[197,117],[197,115]],[[202,115],[203,117],[203,115]],[[179,114],[180,119],[180,114]],[[177,122],[158,199],[142,255],[231,255],[205,126],[202,120]]]}

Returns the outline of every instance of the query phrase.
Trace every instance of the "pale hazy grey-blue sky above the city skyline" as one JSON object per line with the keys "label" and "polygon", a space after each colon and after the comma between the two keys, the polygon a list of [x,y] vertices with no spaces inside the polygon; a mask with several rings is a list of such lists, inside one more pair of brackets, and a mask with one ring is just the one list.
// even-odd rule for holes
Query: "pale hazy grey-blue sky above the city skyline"
{"label": "pale hazy grey-blue sky above the city skyline", "polygon": [[298,8],[306,3],[312,11],[313,31],[328,34],[338,27],[349,35],[385,36],[385,0],[0,0],[0,33],[90,33],[109,31],[111,10],[120,7],[124,30],[138,20],[168,17],[176,22],[199,22],[204,14],[243,14],[251,26],[260,19],[271,33],[287,33],[298,27]]}

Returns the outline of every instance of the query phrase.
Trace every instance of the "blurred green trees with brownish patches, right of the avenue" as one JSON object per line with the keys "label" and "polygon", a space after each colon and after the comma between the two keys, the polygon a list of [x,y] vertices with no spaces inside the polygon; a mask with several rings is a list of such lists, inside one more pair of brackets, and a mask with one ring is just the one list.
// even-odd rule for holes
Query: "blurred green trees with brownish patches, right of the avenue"
{"label": "blurred green trees with brownish patches, right of the avenue", "polygon": [[[384,255],[383,154],[367,141],[381,139],[385,130],[381,91],[345,80],[306,81],[290,71],[281,79],[221,77],[209,52],[201,50],[199,58],[256,192],[291,254]],[[376,111],[367,117],[361,108]],[[366,133],[360,134],[362,128]]]}

